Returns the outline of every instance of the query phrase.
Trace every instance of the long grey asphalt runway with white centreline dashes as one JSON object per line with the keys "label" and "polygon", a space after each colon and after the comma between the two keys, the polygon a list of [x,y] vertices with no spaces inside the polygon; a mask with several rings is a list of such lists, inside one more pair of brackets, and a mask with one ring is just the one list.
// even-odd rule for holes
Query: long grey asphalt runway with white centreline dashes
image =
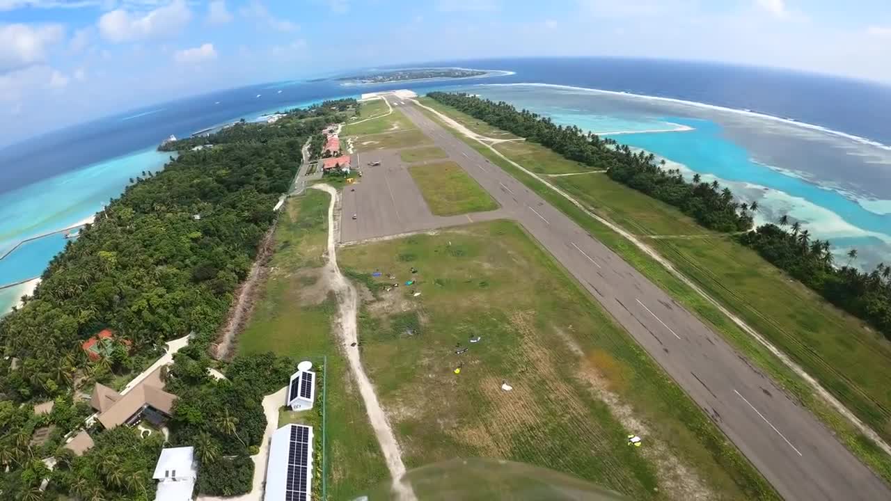
{"label": "long grey asphalt runway with white centreline dashes", "polygon": [[[538,242],[703,407],[789,500],[888,500],[891,489],[813,415],[656,285],[537,194],[428,119],[403,111]],[[402,103],[405,103],[403,105]]]}

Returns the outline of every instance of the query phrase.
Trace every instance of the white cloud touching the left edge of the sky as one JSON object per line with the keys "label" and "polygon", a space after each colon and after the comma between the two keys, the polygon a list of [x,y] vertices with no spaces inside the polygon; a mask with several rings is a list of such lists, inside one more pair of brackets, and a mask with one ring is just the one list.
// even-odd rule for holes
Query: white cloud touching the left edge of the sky
{"label": "white cloud touching the left edge of the sky", "polygon": [[47,49],[64,36],[60,25],[0,24],[0,73],[44,62]]}

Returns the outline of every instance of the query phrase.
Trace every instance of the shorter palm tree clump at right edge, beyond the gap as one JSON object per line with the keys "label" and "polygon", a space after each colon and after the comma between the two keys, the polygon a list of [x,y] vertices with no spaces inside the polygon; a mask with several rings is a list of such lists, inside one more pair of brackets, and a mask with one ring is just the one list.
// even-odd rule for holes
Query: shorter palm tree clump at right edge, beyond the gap
{"label": "shorter palm tree clump at right edge, beyond the gap", "polygon": [[[781,226],[789,226],[789,218],[781,218]],[[757,250],[764,259],[780,267],[820,292],[838,308],[873,324],[891,340],[891,267],[879,263],[871,273],[851,267],[857,250],[848,252],[848,262],[833,266],[830,242],[810,240],[810,232],[793,223],[791,230],[767,224],[740,235],[740,242]]]}

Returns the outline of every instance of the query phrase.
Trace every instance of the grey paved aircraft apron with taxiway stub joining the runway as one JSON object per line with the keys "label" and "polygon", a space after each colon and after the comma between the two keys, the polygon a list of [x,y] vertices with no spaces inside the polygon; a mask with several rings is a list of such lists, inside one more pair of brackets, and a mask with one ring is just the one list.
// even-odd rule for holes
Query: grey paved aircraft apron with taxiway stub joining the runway
{"label": "grey paved aircraft apron with taxiway stub joining the runway", "polygon": [[[380,161],[380,166],[369,167],[372,161]],[[510,217],[503,209],[434,216],[396,150],[359,153],[357,165],[362,169],[360,182],[343,191],[340,242]]]}

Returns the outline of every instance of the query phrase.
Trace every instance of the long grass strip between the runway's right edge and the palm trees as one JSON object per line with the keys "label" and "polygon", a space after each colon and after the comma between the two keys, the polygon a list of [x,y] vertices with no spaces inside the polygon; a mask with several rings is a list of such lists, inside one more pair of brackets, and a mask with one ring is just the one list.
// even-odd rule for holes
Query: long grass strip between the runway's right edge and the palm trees
{"label": "long grass strip between the runway's right edge and the palm trees", "polygon": [[[429,98],[421,98],[421,103],[446,113],[451,118],[461,122],[465,127],[469,127],[480,134],[483,134],[484,130],[486,130],[485,128],[477,128],[475,126],[478,120],[464,115],[460,111],[443,106]],[[431,119],[439,121],[432,113],[424,112]],[[444,123],[442,125],[448,127]],[[488,129],[491,129],[491,127],[488,127]],[[638,250],[633,244],[627,242],[625,238],[619,236],[607,226],[598,223],[585,214],[584,211],[560,196],[559,193],[555,193],[533,177],[529,177],[518,168],[511,166],[510,163],[495,155],[485,146],[478,144],[478,142],[461,136],[455,133],[454,130],[453,133],[486,156],[487,159],[510,173],[511,176],[519,179],[529,189],[551,202],[554,207],[573,218],[576,223],[583,226],[611,250],[617,252],[619,256],[637,268],[643,275],[646,275],[650,281],[671,294],[674,299],[681,302],[707,324],[711,324],[715,332],[722,333],[724,338],[730,341],[736,349],[739,349],[750,361],[762,368],[767,374],[770,374],[774,382],[780,384],[790,395],[829,426],[838,439],[855,455],[860,457],[864,463],[870,465],[882,478],[891,481],[891,457],[881,451],[870,439],[864,437],[862,433],[854,428],[853,424],[848,422],[842,415],[839,415],[822,398],[815,395],[811,387],[802,378],[794,374],[779,358],[773,356],[769,350],[765,349],[748,333],[744,333],[740,327],[733,324],[718,308],[715,308],[714,305],[702,298],[697,292],[668,273],[664,267],[641,250]],[[567,164],[575,164],[575,162],[562,159],[559,155],[546,151],[540,145],[526,144],[527,147],[541,150],[542,158],[549,157],[551,159],[548,165],[543,167],[545,172],[567,171],[570,168]],[[498,149],[507,155],[507,150],[504,150],[503,146],[498,146]],[[523,165],[521,159],[514,160]],[[561,166],[550,165],[557,162],[565,163]],[[551,177],[548,179],[562,189],[567,190],[576,200],[581,201],[585,207],[593,212],[609,218],[619,215],[617,220],[625,218],[623,225],[627,224],[628,230],[632,233],[707,233],[707,230],[696,225],[695,222],[683,216],[678,210],[660,201],[652,200],[624,185],[616,183],[610,185],[609,180],[602,183],[596,182],[599,179],[598,176],[600,175],[592,174]],[[629,222],[629,219],[634,219],[634,214],[640,211],[649,211],[650,213],[647,216],[641,214],[639,219]],[[887,421],[888,407],[884,403],[879,404],[879,402],[887,402],[891,399],[891,392],[887,391],[887,383],[882,382],[883,378],[884,381],[887,381],[888,365],[887,362],[881,366],[875,365],[875,360],[884,358],[884,354],[887,353],[886,341],[880,340],[878,336],[864,328],[854,317],[831,307],[813,292],[806,290],[798,283],[793,283],[788,277],[782,276],[775,267],[757,257],[750,250],[735,242],[729,242],[726,236],[693,239],[683,242],[683,245],[689,245],[700,250],[711,247],[722,249],[716,252],[716,254],[723,255],[723,259],[720,259],[720,262],[715,256],[700,262],[692,257],[694,252],[691,252],[689,249],[684,250],[685,254],[683,256],[679,256],[676,250],[669,252],[668,250],[671,250],[668,249],[669,245],[678,244],[674,240],[652,240],[650,243],[656,245],[661,252],[665,252],[666,259],[672,261],[674,267],[698,282],[715,299],[721,300],[725,308],[732,310],[748,324],[754,326],[767,339],[786,349],[790,357],[795,358],[805,368],[805,371],[816,377],[825,387],[832,390],[846,407],[856,413],[864,422],[872,423],[875,431],[886,437],[891,435],[891,425]],[[707,270],[708,273],[704,273],[703,270]],[[742,276],[748,276],[749,282],[745,286],[740,281]],[[739,288],[737,284],[740,284]],[[742,296],[742,300],[745,303],[740,301],[740,297],[733,298],[732,295],[728,294],[729,291],[734,291],[736,295],[745,291],[746,295]],[[763,310],[748,306],[761,302],[766,303]],[[807,339],[801,333],[811,327],[808,323],[803,322],[810,315],[813,315],[814,318],[824,316],[828,318],[825,330],[820,331],[828,332],[826,335],[830,336],[830,339],[818,341],[812,346],[805,346],[801,342],[790,342],[796,339]],[[839,327],[832,327],[832,325]],[[878,353],[873,354],[873,357],[869,357],[869,359],[860,359],[855,356],[852,358],[849,354],[831,349],[832,345],[838,346],[839,342],[845,342],[830,341],[832,338],[842,339],[845,337],[849,341],[857,340],[854,341],[854,345],[863,343],[867,346],[871,344],[873,346],[886,346],[878,349]],[[855,350],[855,352],[859,353],[866,351],[868,350]],[[879,367],[879,370],[873,374],[873,369],[876,367]],[[839,372],[844,372],[844,374],[839,374]],[[882,415],[886,416],[884,425],[879,425],[879,423],[882,423]]]}

